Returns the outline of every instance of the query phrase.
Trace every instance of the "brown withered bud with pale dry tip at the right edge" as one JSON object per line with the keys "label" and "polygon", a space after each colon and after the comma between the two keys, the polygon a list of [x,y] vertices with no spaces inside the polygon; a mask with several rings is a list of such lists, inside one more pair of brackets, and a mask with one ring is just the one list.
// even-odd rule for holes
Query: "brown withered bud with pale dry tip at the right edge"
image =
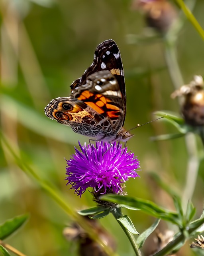
{"label": "brown withered bud with pale dry tip at the right edge", "polygon": [[204,125],[204,82],[202,76],[194,76],[190,84],[183,85],[171,94],[172,98],[184,97],[181,112],[187,124]]}

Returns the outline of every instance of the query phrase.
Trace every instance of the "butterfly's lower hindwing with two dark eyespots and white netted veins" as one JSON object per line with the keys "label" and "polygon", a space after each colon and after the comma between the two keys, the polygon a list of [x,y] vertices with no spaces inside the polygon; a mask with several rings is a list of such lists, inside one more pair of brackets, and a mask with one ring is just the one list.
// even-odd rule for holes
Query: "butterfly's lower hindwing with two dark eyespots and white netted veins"
{"label": "butterfly's lower hindwing with two dark eyespots and white netted veins", "polygon": [[45,108],[45,114],[61,124],[70,126],[74,132],[100,140],[106,134],[112,134],[110,122],[86,102],[72,97],[59,97]]}

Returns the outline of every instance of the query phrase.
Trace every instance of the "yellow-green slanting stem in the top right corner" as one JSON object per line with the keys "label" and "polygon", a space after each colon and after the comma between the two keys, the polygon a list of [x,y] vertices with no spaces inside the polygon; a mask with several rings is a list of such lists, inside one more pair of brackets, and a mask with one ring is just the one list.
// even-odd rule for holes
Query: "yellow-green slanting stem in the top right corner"
{"label": "yellow-green slanting stem in the top right corner", "polygon": [[183,10],[184,14],[190,20],[194,28],[197,30],[197,32],[200,34],[202,40],[204,40],[204,30],[196,20],[196,18],[193,16],[190,9],[184,4],[183,0],[176,0],[177,4],[179,4],[180,8]]}

